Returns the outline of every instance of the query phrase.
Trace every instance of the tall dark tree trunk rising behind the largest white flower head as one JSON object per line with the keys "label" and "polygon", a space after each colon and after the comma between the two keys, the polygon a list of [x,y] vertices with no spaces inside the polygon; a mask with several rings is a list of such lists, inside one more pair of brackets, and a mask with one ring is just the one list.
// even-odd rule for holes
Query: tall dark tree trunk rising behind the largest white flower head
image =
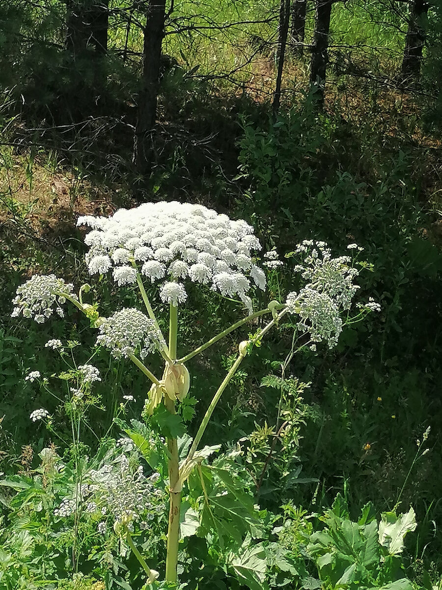
{"label": "tall dark tree trunk rising behind the largest white flower head", "polygon": [[138,94],[137,123],[134,137],[134,165],[137,172],[134,194],[137,201],[146,196],[154,156],[154,127],[160,79],[161,46],[164,37],[166,0],[150,0],[144,29],[143,78]]}

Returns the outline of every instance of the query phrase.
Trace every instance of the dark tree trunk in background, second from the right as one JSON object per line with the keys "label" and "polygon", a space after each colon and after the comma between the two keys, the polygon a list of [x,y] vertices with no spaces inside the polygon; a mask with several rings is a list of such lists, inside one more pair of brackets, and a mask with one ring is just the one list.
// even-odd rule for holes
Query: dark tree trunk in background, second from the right
{"label": "dark tree trunk in background, second from the right", "polygon": [[319,109],[324,106],[325,76],[328,63],[328,34],[333,0],[316,0],[315,33],[310,66],[310,85]]}

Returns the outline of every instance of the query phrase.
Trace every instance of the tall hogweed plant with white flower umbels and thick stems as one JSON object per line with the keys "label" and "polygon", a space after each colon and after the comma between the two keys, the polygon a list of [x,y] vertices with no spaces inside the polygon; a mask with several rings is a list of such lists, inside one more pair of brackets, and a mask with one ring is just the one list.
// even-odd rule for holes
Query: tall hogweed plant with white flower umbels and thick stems
{"label": "tall hogweed plant with white flower umbels and thick stems", "polygon": [[[355,257],[333,258],[324,242],[309,240],[299,244],[291,253],[301,260],[295,272],[301,276],[304,286],[288,293],[285,301],[272,300],[265,309],[254,311],[252,297],[256,290],[266,290],[265,270],[274,272],[282,263],[272,251],[264,255],[261,267],[257,255],[261,245],[253,228],[246,221],[234,221],[201,205],[146,203],[130,210],[120,209],[108,218],[80,217],[78,225],[91,228],[85,235],[85,243],[90,247],[85,261],[91,276],[112,274],[118,287],[136,287],[145,309],[130,307],[117,310],[109,317],[101,317],[97,302],[85,303],[83,300],[84,294],[90,291],[88,284],[81,286],[77,294],[72,284],[49,275],[33,276],[18,287],[12,316],[43,323],[54,313],[63,317],[65,304],[73,304],[98,330],[97,345],[109,349],[117,359],[130,359],[150,381],[143,412],[147,417],[166,412],[169,417],[179,419],[177,406],[186,398],[190,388],[186,362],[233,330],[269,316],[263,327],[239,343],[236,360],[213,395],[187,455],[181,461],[176,433],[169,431],[167,434],[169,525],[166,581],[176,582],[183,486],[194,470],[200,471],[200,465],[208,455],[207,451],[199,451],[204,431],[220,397],[253,345],[259,345],[273,328],[278,327],[284,316],[291,314],[296,318],[294,325],[301,342],[299,348],[309,346],[315,350],[319,342],[333,348],[344,323],[354,322],[365,313],[378,310],[378,304],[370,301],[360,305],[351,316],[352,301],[358,289],[354,283],[358,270],[352,264]],[[349,250],[359,253],[361,248],[350,244]],[[169,306],[167,342],[153,302],[147,295],[146,281],[158,286],[160,301]],[[247,314],[198,348],[184,354],[180,352],[180,356],[177,350],[178,313],[180,307],[188,304],[186,287],[189,283],[200,284],[207,290],[241,302]],[[60,348],[57,340],[48,342],[47,346]],[[180,348],[185,348],[185,342],[180,343]],[[161,376],[154,375],[149,368],[149,359],[155,353],[164,361]],[[88,365],[78,367],[78,370],[83,371],[83,378],[90,382],[99,378]],[[28,376],[29,380],[34,377],[32,373]],[[44,409],[36,412],[33,412],[32,419],[47,419]],[[115,516],[114,529],[128,532],[134,513],[120,512]],[[147,573],[148,582],[152,582],[157,572],[147,566],[130,535],[127,539]]]}

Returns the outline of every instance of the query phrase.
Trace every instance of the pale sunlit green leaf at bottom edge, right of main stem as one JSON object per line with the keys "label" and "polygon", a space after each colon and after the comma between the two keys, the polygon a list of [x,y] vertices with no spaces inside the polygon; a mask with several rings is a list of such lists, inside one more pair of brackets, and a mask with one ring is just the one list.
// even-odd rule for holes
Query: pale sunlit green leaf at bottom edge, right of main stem
{"label": "pale sunlit green leaf at bottom edge, right of main stem", "polygon": [[250,590],[268,588],[265,582],[267,560],[262,543],[251,548],[240,549],[238,553],[229,553],[227,563],[235,571],[240,584],[247,586]]}

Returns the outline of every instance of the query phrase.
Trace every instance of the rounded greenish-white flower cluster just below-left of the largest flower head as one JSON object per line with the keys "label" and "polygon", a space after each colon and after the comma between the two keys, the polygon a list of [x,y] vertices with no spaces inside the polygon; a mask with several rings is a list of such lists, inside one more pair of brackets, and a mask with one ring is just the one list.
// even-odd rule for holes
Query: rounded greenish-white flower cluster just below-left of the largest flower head
{"label": "rounded greenish-white flower cluster just below-left of the largest flower head", "polygon": [[161,335],[153,320],[134,307],[120,310],[100,324],[97,344],[111,350],[115,358],[139,351],[140,358],[159,346]]}

